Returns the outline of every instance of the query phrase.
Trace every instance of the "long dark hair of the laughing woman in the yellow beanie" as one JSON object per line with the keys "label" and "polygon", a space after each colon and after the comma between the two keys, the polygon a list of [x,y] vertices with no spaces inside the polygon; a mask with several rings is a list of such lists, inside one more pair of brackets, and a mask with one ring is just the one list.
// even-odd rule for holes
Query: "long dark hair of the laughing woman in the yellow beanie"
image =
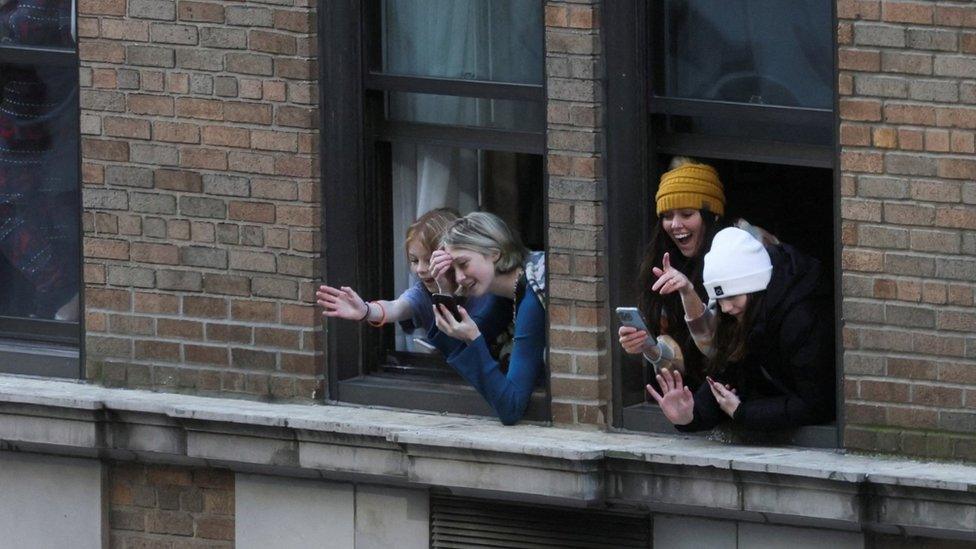
{"label": "long dark hair of the laughing woman in the yellow beanie", "polygon": [[641,261],[640,273],[637,277],[639,292],[637,307],[647,321],[648,329],[654,332],[651,334],[652,337],[666,333],[681,346],[685,359],[685,377],[688,378],[689,387],[698,385],[704,380],[702,374],[704,357],[695,346],[691,333],[688,332],[681,297],[677,292],[661,295],[652,291],[651,286],[657,280],[652,269],[660,267],[664,261],[664,254],[668,253],[671,257],[671,266],[688,277],[702,301],[708,299],[705,286],[702,283],[704,258],[712,246],[712,238],[723,226],[721,219],[714,213],[706,210],[699,210],[699,212],[701,213],[704,233],[698,253],[694,257],[685,257],[674,240],[665,232],[664,218],[659,216],[654,231],[651,233],[651,242],[644,250],[644,259]]}

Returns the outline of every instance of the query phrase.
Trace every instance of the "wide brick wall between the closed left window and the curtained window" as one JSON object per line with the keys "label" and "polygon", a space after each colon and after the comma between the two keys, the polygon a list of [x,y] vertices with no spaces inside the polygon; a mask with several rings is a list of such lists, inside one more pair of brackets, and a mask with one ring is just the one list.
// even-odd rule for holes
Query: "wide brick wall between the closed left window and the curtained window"
{"label": "wide brick wall between the closed left window and the curtained window", "polygon": [[321,398],[309,0],[81,0],[89,378]]}

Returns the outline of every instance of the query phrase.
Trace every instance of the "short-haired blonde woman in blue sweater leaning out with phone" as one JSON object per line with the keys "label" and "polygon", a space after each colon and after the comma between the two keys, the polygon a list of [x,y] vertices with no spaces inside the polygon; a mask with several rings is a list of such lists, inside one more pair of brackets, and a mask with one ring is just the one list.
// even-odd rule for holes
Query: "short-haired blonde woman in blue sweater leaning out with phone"
{"label": "short-haired blonde woman in blue sweater leaning out with phone", "polygon": [[471,296],[493,294],[513,302],[514,340],[508,367],[492,357],[485,336],[463,307],[461,319],[434,308],[441,337],[462,342],[447,358],[488,401],[505,425],[525,413],[545,372],[546,266],[543,252],[529,252],[498,216],[470,213],[448,227],[441,250],[431,255],[435,277],[454,269],[458,286]]}

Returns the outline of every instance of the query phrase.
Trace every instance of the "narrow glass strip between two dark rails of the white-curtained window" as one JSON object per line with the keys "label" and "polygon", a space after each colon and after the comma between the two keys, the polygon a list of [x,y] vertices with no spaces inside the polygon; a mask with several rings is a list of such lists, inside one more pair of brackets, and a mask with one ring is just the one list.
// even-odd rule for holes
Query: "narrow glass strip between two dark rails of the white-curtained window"
{"label": "narrow glass strip between two dark rails of the white-curtained window", "polygon": [[545,128],[543,103],[405,92],[389,92],[387,98],[390,120],[530,132]]}

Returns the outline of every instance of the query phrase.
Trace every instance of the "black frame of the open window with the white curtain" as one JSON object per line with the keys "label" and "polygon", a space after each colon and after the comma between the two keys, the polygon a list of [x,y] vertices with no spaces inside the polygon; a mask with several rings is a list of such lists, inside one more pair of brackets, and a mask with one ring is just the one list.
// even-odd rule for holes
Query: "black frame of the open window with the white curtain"
{"label": "black frame of the open window with the white curtain", "polygon": [[[542,0],[535,0],[542,3]],[[325,280],[347,285],[365,296],[392,292],[392,264],[397,250],[384,223],[372,216],[386,211],[389,198],[381,189],[378,145],[398,140],[480,150],[545,155],[545,128],[524,132],[444,126],[386,120],[382,109],[370,108],[385,92],[414,92],[461,97],[533,101],[545,104],[545,85],[454,80],[384,74],[370,70],[378,32],[378,0],[337,0],[319,10],[319,99],[321,105],[322,231]],[[378,35],[374,35],[378,36]],[[375,52],[374,52],[375,53]],[[544,71],[543,71],[544,78]],[[543,163],[544,165],[544,163]],[[543,174],[542,184],[547,176]],[[381,192],[377,192],[380,190]],[[547,220],[547,212],[544,212]],[[544,221],[545,222],[545,221]],[[355,230],[355,238],[350,234]],[[395,252],[394,252],[395,253]],[[548,319],[547,327],[548,332]],[[383,330],[365,323],[326,322],[328,398],[332,401],[436,412],[494,416],[487,402],[463,381],[430,378],[395,379],[373,373],[388,348]],[[548,353],[548,347],[547,347]],[[535,391],[525,420],[549,421],[549,380]]]}

